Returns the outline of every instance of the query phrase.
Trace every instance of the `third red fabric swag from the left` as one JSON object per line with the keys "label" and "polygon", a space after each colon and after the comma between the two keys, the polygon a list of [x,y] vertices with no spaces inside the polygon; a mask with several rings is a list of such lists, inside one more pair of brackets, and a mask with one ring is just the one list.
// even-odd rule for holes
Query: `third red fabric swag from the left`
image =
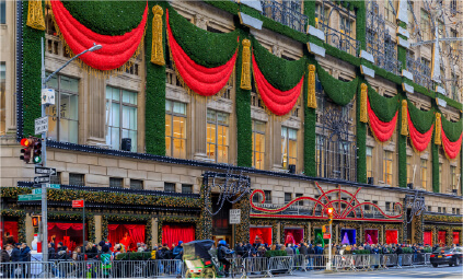
{"label": "third red fabric swag from the left", "polygon": [[253,54],[253,73],[256,81],[257,91],[265,106],[275,115],[286,115],[294,107],[298,97],[301,94],[304,75],[294,88],[288,91],[281,91],[274,88],[264,77],[258,68]]}

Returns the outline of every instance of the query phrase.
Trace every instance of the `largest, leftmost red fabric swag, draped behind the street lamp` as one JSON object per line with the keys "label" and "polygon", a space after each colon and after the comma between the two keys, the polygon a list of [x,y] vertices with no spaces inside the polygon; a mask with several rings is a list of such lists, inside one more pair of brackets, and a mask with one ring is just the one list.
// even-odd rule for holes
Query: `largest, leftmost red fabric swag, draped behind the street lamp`
{"label": "largest, leftmost red fabric swag, draped behind the street lamp", "polygon": [[147,2],[143,18],[137,27],[124,35],[111,36],[97,34],[82,25],[72,18],[60,0],[53,0],[51,9],[59,31],[72,53],[80,54],[92,47],[93,43],[103,46],[100,50],[79,57],[88,66],[102,71],[117,69],[134,56],[143,37],[148,19]]}

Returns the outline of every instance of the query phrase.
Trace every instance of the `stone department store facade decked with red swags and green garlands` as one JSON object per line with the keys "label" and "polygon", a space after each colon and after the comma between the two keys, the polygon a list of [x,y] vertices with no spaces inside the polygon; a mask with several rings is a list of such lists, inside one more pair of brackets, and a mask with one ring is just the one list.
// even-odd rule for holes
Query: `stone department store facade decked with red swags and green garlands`
{"label": "stone department store facade decked with red swags and green garlands", "polygon": [[40,209],[18,195],[44,39],[47,74],[103,46],[47,83],[55,241],[82,241],[83,198],[86,237],[128,246],[323,242],[327,207],[334,242],[462,245],[463,48],[431,42],[461,37],[461,2],[80,4],[1,1],[3,236]]}

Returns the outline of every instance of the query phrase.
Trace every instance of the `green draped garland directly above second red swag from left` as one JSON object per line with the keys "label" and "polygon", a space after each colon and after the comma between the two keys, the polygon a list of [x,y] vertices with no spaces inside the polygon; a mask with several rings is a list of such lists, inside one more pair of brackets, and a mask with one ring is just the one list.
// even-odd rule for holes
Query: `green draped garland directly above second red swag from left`
{"label": "green draped garland directly above second red swag from left", "polygon": [[167,9],[172,34],[195,62],[208,68],[218,67],[235,54],[239,31],[224,34],[208,32],[187,21],[169,4]]}

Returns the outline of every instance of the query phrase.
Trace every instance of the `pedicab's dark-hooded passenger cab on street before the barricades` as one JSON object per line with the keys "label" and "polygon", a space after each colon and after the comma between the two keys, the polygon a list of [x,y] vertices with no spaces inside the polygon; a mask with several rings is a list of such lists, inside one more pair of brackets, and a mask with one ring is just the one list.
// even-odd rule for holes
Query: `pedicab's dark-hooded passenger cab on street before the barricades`
{"label": "pedicab's dark-hooded passenger cab on street before the barricades", "polygon": [[216,260],[209,253],[213,241],[192,241],[183,245],[183,259],[186,265],[185,278],[223,277],[218,272]]}

